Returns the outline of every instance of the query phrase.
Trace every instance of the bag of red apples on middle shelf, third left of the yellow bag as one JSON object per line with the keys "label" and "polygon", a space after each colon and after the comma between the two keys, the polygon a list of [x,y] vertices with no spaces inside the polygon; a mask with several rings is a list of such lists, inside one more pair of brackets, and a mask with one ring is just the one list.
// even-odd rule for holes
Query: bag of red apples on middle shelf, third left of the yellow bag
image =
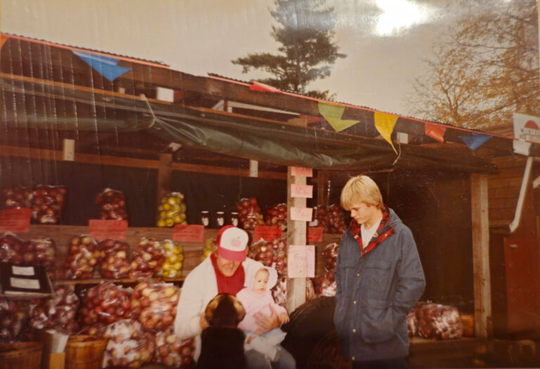
{"label": "bag of red apples on middle shelf, third left of the yellow bag", "polygon": [[88,279],[94,277],[101,261],[101,251],[91,235],[78,235],[71,239],[65,259],[65,278]]}

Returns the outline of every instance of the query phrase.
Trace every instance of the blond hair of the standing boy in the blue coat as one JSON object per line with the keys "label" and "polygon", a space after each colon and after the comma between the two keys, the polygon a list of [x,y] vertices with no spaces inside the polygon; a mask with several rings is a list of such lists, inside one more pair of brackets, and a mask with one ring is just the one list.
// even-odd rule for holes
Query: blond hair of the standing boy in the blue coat
{"label": "blond hair of the standing boy in the blue coat", "polygon": [[354,176],[349,179],[341,190],[341,207],[347,211],[352,205],[364,202],[373,205],[378,209],[383,208],[383,195],[380,194],[379,187],[373,179],[368,176]]}

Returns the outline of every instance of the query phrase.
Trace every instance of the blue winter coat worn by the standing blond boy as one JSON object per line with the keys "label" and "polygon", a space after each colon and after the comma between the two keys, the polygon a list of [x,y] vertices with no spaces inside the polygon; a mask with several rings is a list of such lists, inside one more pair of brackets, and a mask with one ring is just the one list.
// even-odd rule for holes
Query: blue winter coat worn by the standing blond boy
{"label": "blue winter coat worn by the standing blond boy", "polygon": [[358,241],[342,236],[335,266],[334,324],[342,354],[352,361],[409,354],[406,316],[425,288],[411,230],[390,209],[395,233],[360,258]]}

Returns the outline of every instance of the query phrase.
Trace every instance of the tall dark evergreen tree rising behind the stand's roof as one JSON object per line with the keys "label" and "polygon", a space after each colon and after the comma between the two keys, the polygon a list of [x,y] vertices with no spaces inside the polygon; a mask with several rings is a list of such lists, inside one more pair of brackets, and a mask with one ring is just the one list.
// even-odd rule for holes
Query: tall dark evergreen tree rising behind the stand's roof
{"label": "tall dark evergreen tree rising behind the stand's roof", "polygon": [[345,54],[338,53],[333,41],[335,18],[333,8],[325,8],[326,0],[276,0],[270,11],[278,26],[271,36],[281,46],[277,54],[254,53],[233,60],[242,72],[264,70],[274,77],[259,79],[285,91],[328,98],[328,91],[307,91],[316,79],[330,76],[330,65]]}

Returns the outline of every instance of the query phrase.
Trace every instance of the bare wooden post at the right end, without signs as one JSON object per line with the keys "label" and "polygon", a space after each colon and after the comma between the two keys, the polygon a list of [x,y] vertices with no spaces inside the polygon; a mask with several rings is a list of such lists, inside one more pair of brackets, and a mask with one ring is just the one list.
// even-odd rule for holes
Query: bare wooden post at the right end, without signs
{"label": "bare wooden post at the right end, without signs", "polygon": [[491,337],[491,278],[489,276],[489,219],[487,175],[471,174],[470,198],[473,217],[473,273],[475,289],[475,336]]}

